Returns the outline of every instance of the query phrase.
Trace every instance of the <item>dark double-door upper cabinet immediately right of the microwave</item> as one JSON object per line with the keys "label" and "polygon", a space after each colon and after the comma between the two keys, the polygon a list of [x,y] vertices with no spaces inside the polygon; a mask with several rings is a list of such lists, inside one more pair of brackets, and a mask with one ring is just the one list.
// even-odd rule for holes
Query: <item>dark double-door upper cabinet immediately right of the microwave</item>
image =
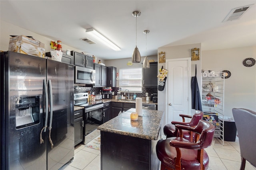
{"label": "dark double-door upper cabinet immediately right of the microwave", "polygon": [[96,78],[94,86],[104,87],[107,84],[107,67],[94,63],[94,70],[96,70]]}

